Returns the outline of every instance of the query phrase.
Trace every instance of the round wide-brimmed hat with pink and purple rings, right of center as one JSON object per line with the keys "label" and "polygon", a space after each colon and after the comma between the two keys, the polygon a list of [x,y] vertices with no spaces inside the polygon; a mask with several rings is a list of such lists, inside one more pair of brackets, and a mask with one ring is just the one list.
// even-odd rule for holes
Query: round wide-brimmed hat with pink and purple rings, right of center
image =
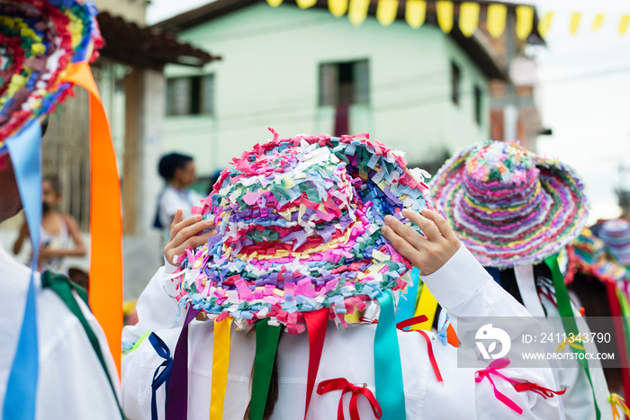
{"label": "round wide-brimmed hat with pink and purple rings, right of center", "polygon": [[429,185],[457,237],[488,267],[538,264],[572,242],[588,217],[569,166],[511,142],[464,149]]}

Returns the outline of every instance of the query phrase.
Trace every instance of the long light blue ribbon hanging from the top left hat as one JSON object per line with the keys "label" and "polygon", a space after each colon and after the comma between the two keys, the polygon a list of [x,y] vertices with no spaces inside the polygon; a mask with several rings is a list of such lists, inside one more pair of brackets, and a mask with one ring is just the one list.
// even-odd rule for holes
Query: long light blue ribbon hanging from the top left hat
{"label": "long light blue ribbon hanging from the top left hat", "polygon": [[37,342],[37,305],[33,274],[40,256],[41,225],[41,126],[33,120],[18,134],[6,139],[14,166],[15,181],[26,222],[31,232],[31,280],[26,294],[22,330],[15,350],[14,362],[6,384],[2,418],[4,420],[32,420],[35,418],[39,353]]}

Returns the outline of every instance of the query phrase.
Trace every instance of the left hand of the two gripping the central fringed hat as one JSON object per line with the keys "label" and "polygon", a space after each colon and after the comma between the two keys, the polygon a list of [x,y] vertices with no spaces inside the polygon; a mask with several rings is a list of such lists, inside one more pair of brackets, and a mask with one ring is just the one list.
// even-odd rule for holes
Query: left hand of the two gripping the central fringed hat
{"label": "left hand of the two gripping the central fringed hat", "polygon": [[182,220],[182,210],[177,210],[173,223],[171,223],[171,237],[164,247],[164,256],[170,264],[174,262],[175,256],[184,254],[187,248],[196,248],[208,242],[209,237],[213,237],[217,232],[212,229],[203,235],[199,232],[212,228],[212,220],[202,220],[202,215],[195,214],[190,218]]}

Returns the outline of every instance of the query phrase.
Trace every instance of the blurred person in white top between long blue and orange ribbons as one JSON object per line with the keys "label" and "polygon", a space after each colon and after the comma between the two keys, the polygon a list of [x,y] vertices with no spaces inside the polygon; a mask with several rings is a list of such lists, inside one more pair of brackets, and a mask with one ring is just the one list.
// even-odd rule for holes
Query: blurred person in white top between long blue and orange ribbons
{"label": "blurred person in white top between long blue and orange ribbons", "polygon": [[[55,176],[44,176],[41,183],[42,214],[40,226],[40,273],[49,270],[67,273],[64,260],[67,256],[85,256],[85,244],[76,219],[57,210],[63,196]],[[24,240],[29,238],[29,228],[24,219],[20,235],[14,243],[14,254],[22,250]]]}

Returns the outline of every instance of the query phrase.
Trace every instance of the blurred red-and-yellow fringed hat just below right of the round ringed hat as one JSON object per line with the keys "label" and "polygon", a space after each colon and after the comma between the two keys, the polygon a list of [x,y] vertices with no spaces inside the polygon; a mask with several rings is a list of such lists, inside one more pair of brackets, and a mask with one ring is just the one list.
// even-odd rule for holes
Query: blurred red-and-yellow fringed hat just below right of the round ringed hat
{"label": "blurred red-and-yellow fringed hat just below right of the round ringed hat", "polygon": [[579,237],[567,247],[569,269],[564,281],[568,284],[575,273],[584,273],[603,281],[623,281],[628,277],[626,267],[617,264],[608,253],[604,242],[593,235],[588,228],[583,228]]}

